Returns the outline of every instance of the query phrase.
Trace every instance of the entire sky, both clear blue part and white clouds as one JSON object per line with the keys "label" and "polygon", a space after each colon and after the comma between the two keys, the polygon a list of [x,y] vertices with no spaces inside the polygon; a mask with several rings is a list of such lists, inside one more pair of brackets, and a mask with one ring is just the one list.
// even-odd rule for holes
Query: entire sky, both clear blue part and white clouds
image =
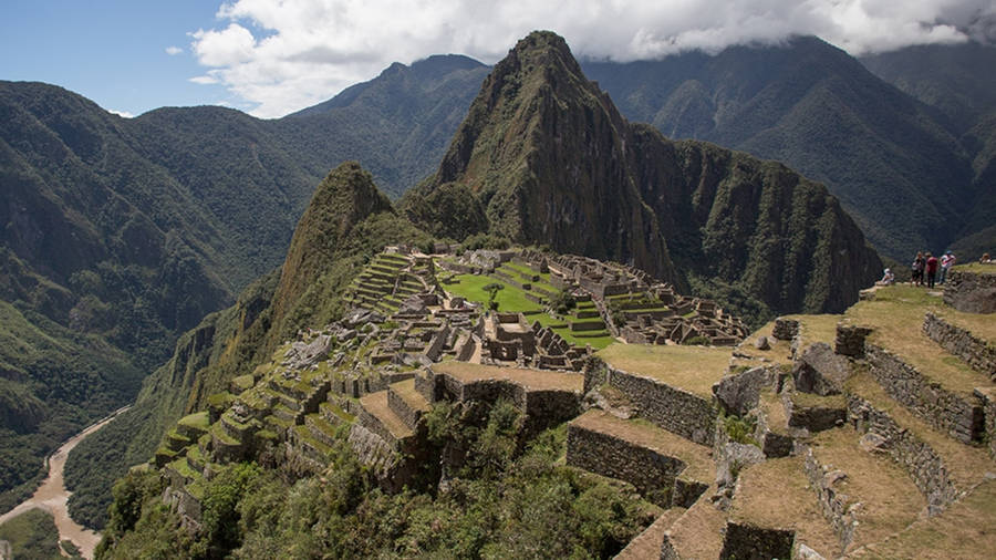
{"label": "entire sky, both clear blue part and white clouds", "polygon": [[536,29],[616,61],[795,34],[862,54],[996,41],[996,0],[0,0],[0,80],[53,83],[133,115],[222,104],[278,117],[392,62],[494,63]]}

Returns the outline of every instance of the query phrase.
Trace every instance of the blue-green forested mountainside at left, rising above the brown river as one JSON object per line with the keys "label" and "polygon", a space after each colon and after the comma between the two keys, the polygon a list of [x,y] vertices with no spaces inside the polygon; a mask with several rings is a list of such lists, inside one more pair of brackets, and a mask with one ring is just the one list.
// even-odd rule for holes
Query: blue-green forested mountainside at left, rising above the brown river
{"label": "blue-green forested mountainside at left, rising above the brown river", "polygon": [[395,64],[277,121],[222,107],[126,120],[0,82],[0,433],[18,442],[0,449],[0,509],[55,443],[133,400],[179,333],[280,263],[330,167],[371,162],[395,194],[429,174],[485,72],[463,56]]}

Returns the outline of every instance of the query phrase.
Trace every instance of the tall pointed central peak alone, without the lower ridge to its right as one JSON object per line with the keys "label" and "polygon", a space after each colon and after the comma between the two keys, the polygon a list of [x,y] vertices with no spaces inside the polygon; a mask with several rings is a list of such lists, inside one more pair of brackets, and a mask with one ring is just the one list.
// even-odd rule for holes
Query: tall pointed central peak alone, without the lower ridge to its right
{"label": "tall pointed central peak alone, without the lower ridge to its right", "polygon": [[[533,33],[485,80],[438,173],[405,208],[439,235],[490,231],[678,280],[625,164],[627,134],[563,40]],[[479,208],[458,215],[477,219],[450,221],[457,212],[439,204],[439,193],[473,195]],[[419,196],[428,204],[412,204]]]}

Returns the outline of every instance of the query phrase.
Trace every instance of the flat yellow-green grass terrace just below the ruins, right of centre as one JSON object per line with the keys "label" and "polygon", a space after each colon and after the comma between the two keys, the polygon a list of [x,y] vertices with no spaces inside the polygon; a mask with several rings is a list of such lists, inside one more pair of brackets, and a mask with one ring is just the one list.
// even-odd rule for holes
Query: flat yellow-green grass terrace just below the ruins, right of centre
{"label": "flat yellow-green grass terrace just below the ruins, right of centre", "polygon": [[620,370],[646,375],[703,398],[713,397],[713,383],[726,373],[733,349],[613,344],[598,355]]}

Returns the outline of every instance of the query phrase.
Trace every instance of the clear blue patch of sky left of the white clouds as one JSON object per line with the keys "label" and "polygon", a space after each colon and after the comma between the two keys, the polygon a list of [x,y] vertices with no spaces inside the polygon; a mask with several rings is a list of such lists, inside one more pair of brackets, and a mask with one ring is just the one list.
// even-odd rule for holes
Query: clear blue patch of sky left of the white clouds
{"label": "clear blue patch of sky left of the white clouds", "polygon": [[134,115],[232,102],[224,85],[188,80],[204,68],[187,33],[216,24],[217,11],[195,0],[2,0],[0,80],[53,83]]}

